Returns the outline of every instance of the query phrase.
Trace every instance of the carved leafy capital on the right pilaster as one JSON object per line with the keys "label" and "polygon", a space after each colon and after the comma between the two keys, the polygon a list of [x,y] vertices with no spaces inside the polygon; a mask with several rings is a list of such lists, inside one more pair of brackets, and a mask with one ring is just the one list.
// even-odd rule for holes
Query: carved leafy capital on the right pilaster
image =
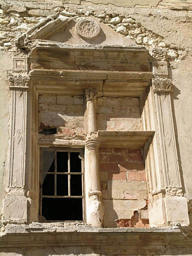
{"label": "carved leafy capital on the right pilaster", "polygon": [[152,89],[154,92],[171,92],[172,81],[171,79],[156,76],[152,79]]}

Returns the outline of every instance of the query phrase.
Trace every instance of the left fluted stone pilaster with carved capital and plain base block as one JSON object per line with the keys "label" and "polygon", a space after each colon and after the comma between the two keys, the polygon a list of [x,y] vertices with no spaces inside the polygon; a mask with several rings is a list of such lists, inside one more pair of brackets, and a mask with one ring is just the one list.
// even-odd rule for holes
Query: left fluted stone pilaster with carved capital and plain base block
{"label": "left fluted stone pilaster with carved capital and plain base block", "polygon": [[27,74],[10,73],[11,90],[9,169],[7,171],[7,194],[4,198],[5,221],[25,223],[27,221],[27,198],[25,192]]}

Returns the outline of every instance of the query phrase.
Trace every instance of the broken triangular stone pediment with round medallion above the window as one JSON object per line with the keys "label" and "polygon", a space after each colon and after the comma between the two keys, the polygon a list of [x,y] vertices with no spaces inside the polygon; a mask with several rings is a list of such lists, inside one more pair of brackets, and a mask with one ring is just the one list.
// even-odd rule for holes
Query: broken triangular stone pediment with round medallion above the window
{"label": "broken triangular stone pediment with round medallion above the window", "polygon": [[30,48],[32,42],[45,40],[64,44],[135,45],[95,17],[49,16],[17,39],[19,48]]}

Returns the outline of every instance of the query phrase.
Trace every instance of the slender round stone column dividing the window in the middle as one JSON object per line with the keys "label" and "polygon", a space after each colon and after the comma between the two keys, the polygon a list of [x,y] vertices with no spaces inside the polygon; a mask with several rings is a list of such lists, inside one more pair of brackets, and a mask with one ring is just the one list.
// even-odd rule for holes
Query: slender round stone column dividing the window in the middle
{"label": "slender round stone column dividing the window in the middle", "polygon": [[85,142],[85,200],[86,222],[96,227],[102,226],[103,210],[101,203],[98,147],[96,133],[95,98],[96,90],[85,89],[86,98],[86,142]]}

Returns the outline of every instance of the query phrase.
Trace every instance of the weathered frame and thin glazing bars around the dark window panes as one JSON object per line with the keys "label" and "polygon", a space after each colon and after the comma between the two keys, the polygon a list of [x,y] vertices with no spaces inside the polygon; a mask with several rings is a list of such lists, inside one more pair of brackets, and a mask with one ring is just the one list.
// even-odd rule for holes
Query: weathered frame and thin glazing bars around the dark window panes
{"label": "weathered frame and thin glazing bars around the dark window panes", "polygon": [[[42,184],[41,184],[41,164],[42,164],[42,152],[43,151],[54,151],[55,154],[56,152],[68,152],[68,155],[70,152],[79,152],[79,156],[81,159],[81,172],[72,172],[72,175],[81,175],[81,185],[82,185],[82,195],[43,195],[42,196]],[[68,158],[69,161],[69,158]],[[68,165],[68,163],[67,163]],[[68,168],[69,169],[69,168]],[[54,167],[54,193],[55,193],[55,183],[56,183],[56,175],[57,174],[64,174],[67,176],[71,175],[71,172],[56,172],[56,169]],[[68,184],[70,182],[70,179],[68,178]],[[39,222],[85,222],[85,184],[84,184],[84,148],[70,148],[70,147],[44,147],[40,146],[39,147],[39,216],[40,216],[40,221]],[[69,187],[68,187],[68,192],[69,192]],[[42,198],[82,198],[82,220],[44,220],[42,219]]]}

